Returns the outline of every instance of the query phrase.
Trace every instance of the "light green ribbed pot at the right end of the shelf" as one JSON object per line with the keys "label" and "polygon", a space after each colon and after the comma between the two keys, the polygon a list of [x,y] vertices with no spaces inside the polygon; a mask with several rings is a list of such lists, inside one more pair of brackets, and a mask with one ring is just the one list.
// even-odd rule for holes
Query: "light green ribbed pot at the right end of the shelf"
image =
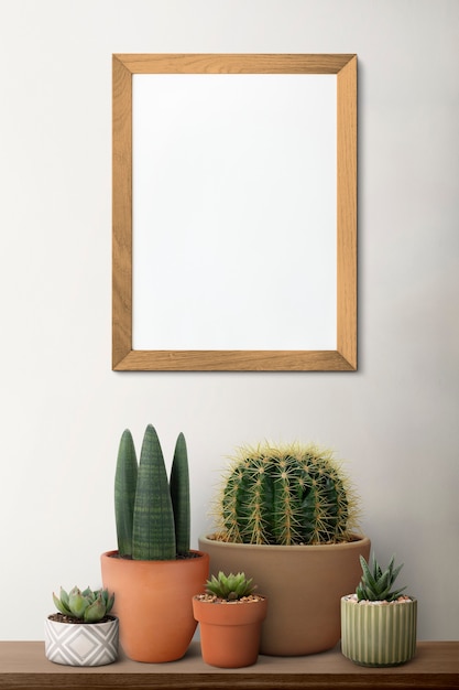
{"label": "light green ribbed pot at the right end of the shelf", "polygon": [[416,651],[417,600],[356,603],[341,599],[341,651],[360,666],[400,666]]}

